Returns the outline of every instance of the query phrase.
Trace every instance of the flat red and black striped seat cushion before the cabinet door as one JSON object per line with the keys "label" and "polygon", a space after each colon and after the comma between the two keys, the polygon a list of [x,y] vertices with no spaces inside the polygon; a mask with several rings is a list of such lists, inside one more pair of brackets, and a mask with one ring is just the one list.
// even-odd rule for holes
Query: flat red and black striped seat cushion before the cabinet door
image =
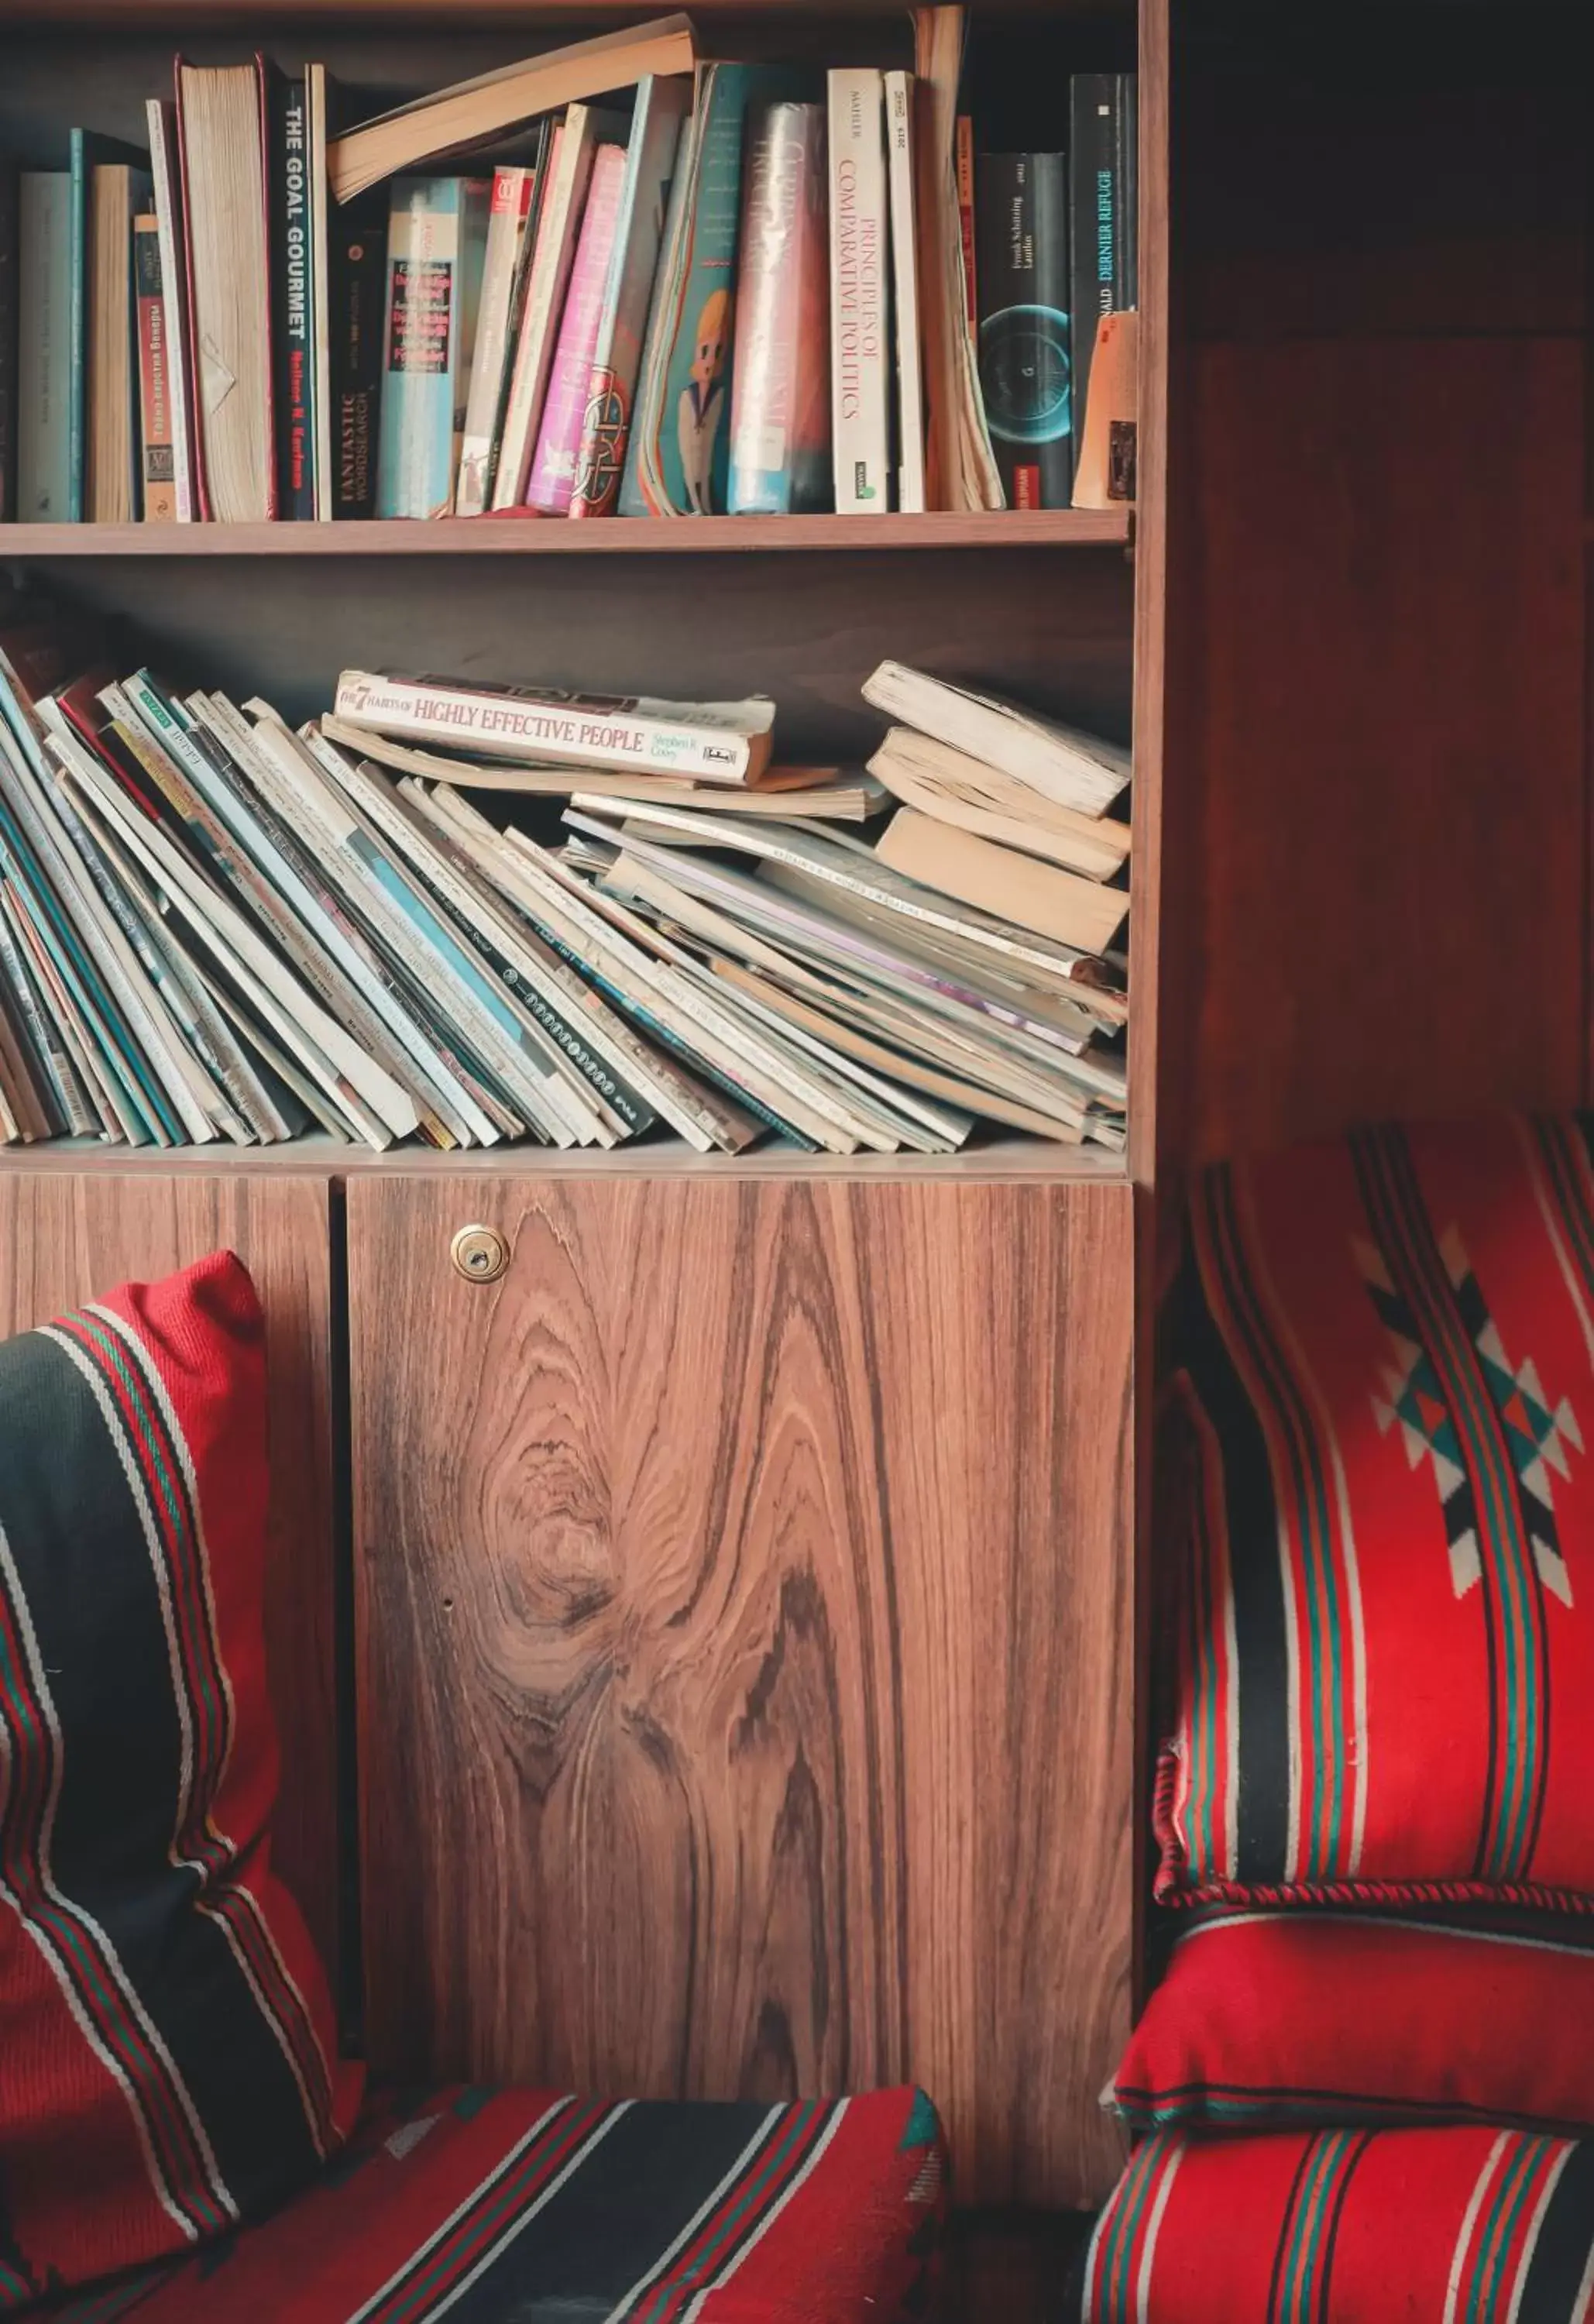
{"label": "flat red and black striped seat cushion before the cabinet door", "polygon": [[946,2150],[911,2089],[802,2106],[383,2096],[260,2226],[98,2284],[60,2324],[909,2324]]}

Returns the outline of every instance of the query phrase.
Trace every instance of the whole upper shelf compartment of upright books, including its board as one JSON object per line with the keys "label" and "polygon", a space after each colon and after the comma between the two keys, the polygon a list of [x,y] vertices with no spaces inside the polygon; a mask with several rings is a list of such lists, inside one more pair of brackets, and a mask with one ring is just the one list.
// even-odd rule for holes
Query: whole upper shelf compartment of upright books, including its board
{"label": "whole upper shelf compartment of upright books, including its board", "polygon": [[16,7],[12,553],[1129,537],[1132,26]]}

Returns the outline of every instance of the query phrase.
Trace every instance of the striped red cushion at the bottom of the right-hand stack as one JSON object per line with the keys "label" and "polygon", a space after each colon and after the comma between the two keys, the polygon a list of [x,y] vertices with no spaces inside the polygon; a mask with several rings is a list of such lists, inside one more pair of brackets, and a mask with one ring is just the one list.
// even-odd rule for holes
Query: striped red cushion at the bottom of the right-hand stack
{"label": "striped red cushion at the bottom of the right-hand stack", "polygon": [[1085,2254],[1078,2324],[1585,2324],[1594,2143],[1278,2131],[1139,2150]]}

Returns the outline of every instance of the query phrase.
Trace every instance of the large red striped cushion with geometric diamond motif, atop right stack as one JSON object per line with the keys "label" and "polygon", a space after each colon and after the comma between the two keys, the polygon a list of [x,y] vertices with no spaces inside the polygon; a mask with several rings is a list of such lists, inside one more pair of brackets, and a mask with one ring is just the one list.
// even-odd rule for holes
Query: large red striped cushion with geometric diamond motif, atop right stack
{"label": "large red striped cushion with geometric diamond motif, atop right stack", "polygon": [[1371,1129],[1199,1183],[1166,1901],[1594,1903],[1592,1139]]}

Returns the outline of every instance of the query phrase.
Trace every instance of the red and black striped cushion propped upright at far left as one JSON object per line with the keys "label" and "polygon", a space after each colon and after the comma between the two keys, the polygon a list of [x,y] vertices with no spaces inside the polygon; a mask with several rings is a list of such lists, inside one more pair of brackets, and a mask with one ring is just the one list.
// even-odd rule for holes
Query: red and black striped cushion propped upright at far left
{"label": "red and black striped cushion propped upright at far left", "polygon": [[270,1871],[263,1559],[235,1257],[0,1346],[0,2312],[230,2233],[356,2115]]}

